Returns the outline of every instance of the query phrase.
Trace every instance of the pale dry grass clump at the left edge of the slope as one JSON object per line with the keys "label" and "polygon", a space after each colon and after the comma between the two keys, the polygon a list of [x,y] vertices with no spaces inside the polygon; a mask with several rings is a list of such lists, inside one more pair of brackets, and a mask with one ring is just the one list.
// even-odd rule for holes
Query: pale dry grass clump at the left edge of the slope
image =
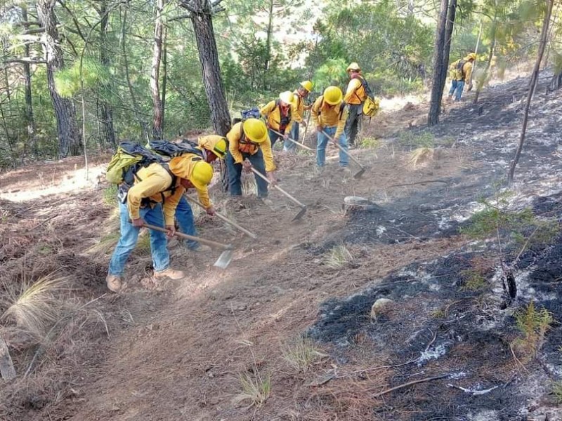
{"label": "pale dry grass clump at the left edge of the slope", "polygon": [[43,338],[60,318],[70,279],[53,273],[34,282],[24,280],[20,288],[6,284],[4,288],[2,305],[6,311],[0,320],[13,319],[18,328]]}

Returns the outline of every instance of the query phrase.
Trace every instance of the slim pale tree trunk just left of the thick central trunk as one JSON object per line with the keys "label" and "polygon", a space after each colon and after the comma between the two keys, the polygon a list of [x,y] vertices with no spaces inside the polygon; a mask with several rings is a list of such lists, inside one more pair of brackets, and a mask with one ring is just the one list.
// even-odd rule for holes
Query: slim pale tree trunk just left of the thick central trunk
{"label": "slim pale tree trunk just left of the thick central trunk", "polygon": [[154,27],[154,46],[152,47],[152,67],[150,69],[150,92],[152,93],[152,138],[162,139],[164,112],[160,98],[160,62],[162,60],[162,11],[164,0],[157,0]]}

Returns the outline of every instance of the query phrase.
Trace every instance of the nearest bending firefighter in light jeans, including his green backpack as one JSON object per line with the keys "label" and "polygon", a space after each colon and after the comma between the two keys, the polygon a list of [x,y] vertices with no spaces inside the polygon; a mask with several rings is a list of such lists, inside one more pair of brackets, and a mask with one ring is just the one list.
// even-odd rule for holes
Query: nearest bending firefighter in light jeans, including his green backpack
{"label": "nearest bending firefighter in light jeans, including his green backpack", "polygon": [[[131,146],[132,145],[132,146]],[[174,214],[185,189],[207,192],[213,168],[201,156],[178,156],[169,163],[148,149],[122,142],[107,168],[106,178],[119,182],[121,237],[113,251],[106,277],[107,288],[118,292],[123,287],[125,263],[144,223],[166,227],[176,233]],[[200,196],[201,198],[201,196]],[[166,234],[150,230],[150,252],[154,277],[181,279],[181,271],[171,269]]]}

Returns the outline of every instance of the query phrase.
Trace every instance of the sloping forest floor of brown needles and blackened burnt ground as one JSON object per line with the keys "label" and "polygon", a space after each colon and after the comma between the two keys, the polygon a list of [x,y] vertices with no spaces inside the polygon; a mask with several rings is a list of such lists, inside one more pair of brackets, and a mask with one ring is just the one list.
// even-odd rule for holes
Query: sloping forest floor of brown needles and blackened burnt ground
{"label": "sloping forest floor of brown needles and blackened burnt ground", "polygon": [[[308,205],[300,222],[276,191],[268,206],[214,187],[258,239],[197,212],[201,236],[235,244],[228,269],[172,241],[188,276],[154,283],[141,239],[119,294],[105,287],[119,226],[98,182],[109,156],[91,160],[94,182],[81,158],[0,173],[4,296],[68,281],[43,337],[4,319],[18,377],[0,385],[0,420],[562,420],[562,238],[532,238],[562,210],[560,92],[538,88],[516,182],[501,187],[526,85],[499,84],[478,105],[468,94],[431,130],[426,103],[381,112],[352,152],[369,167],[358,180],[334,149],[321,174],[312,155],[277,153],[280,186]],[[346,196],[378,206],[344,211]],[[499,196],[497,220],[532,218],[488,240],[460,233],[479,199]],[[392,302],[373,318],[379,298]]]}

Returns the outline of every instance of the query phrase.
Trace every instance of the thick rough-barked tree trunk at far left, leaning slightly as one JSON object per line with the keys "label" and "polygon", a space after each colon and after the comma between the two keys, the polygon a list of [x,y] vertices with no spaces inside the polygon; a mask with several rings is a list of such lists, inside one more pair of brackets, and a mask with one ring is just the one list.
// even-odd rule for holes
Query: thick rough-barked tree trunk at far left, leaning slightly
{"label": "thick rough-barked tree trunk at far left, leaning slightly", "polygon": [[42,44],[47,62],[47,86],[55,109],[60,157],[80,154],[80,135],[76,122],[76,109],[72,100],[62,98],[55,88],[55,72],[64,68],[63,49],[60,48],[55,0],[37,0],[39,24],[45,32]]}

